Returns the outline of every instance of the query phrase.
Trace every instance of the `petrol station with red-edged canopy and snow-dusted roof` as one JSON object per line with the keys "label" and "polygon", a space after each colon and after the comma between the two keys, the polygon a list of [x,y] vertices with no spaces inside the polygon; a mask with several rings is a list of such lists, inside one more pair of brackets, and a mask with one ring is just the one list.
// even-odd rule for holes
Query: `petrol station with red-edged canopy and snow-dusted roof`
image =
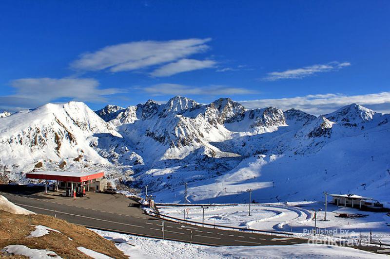
{"label": "petrol station with red-edged canopy and snow-dusted roof", "polygon": [[107,179],[103,178],[104,173],[85,173],[85,172],[60,172],[44,171],[26,173],[26,178],[39,179],[45,181],[45,190],[47,191],[48,181],[56,181],[55,190],[76,190],[83,188],[88,191],[102,191],[107,187]]}

